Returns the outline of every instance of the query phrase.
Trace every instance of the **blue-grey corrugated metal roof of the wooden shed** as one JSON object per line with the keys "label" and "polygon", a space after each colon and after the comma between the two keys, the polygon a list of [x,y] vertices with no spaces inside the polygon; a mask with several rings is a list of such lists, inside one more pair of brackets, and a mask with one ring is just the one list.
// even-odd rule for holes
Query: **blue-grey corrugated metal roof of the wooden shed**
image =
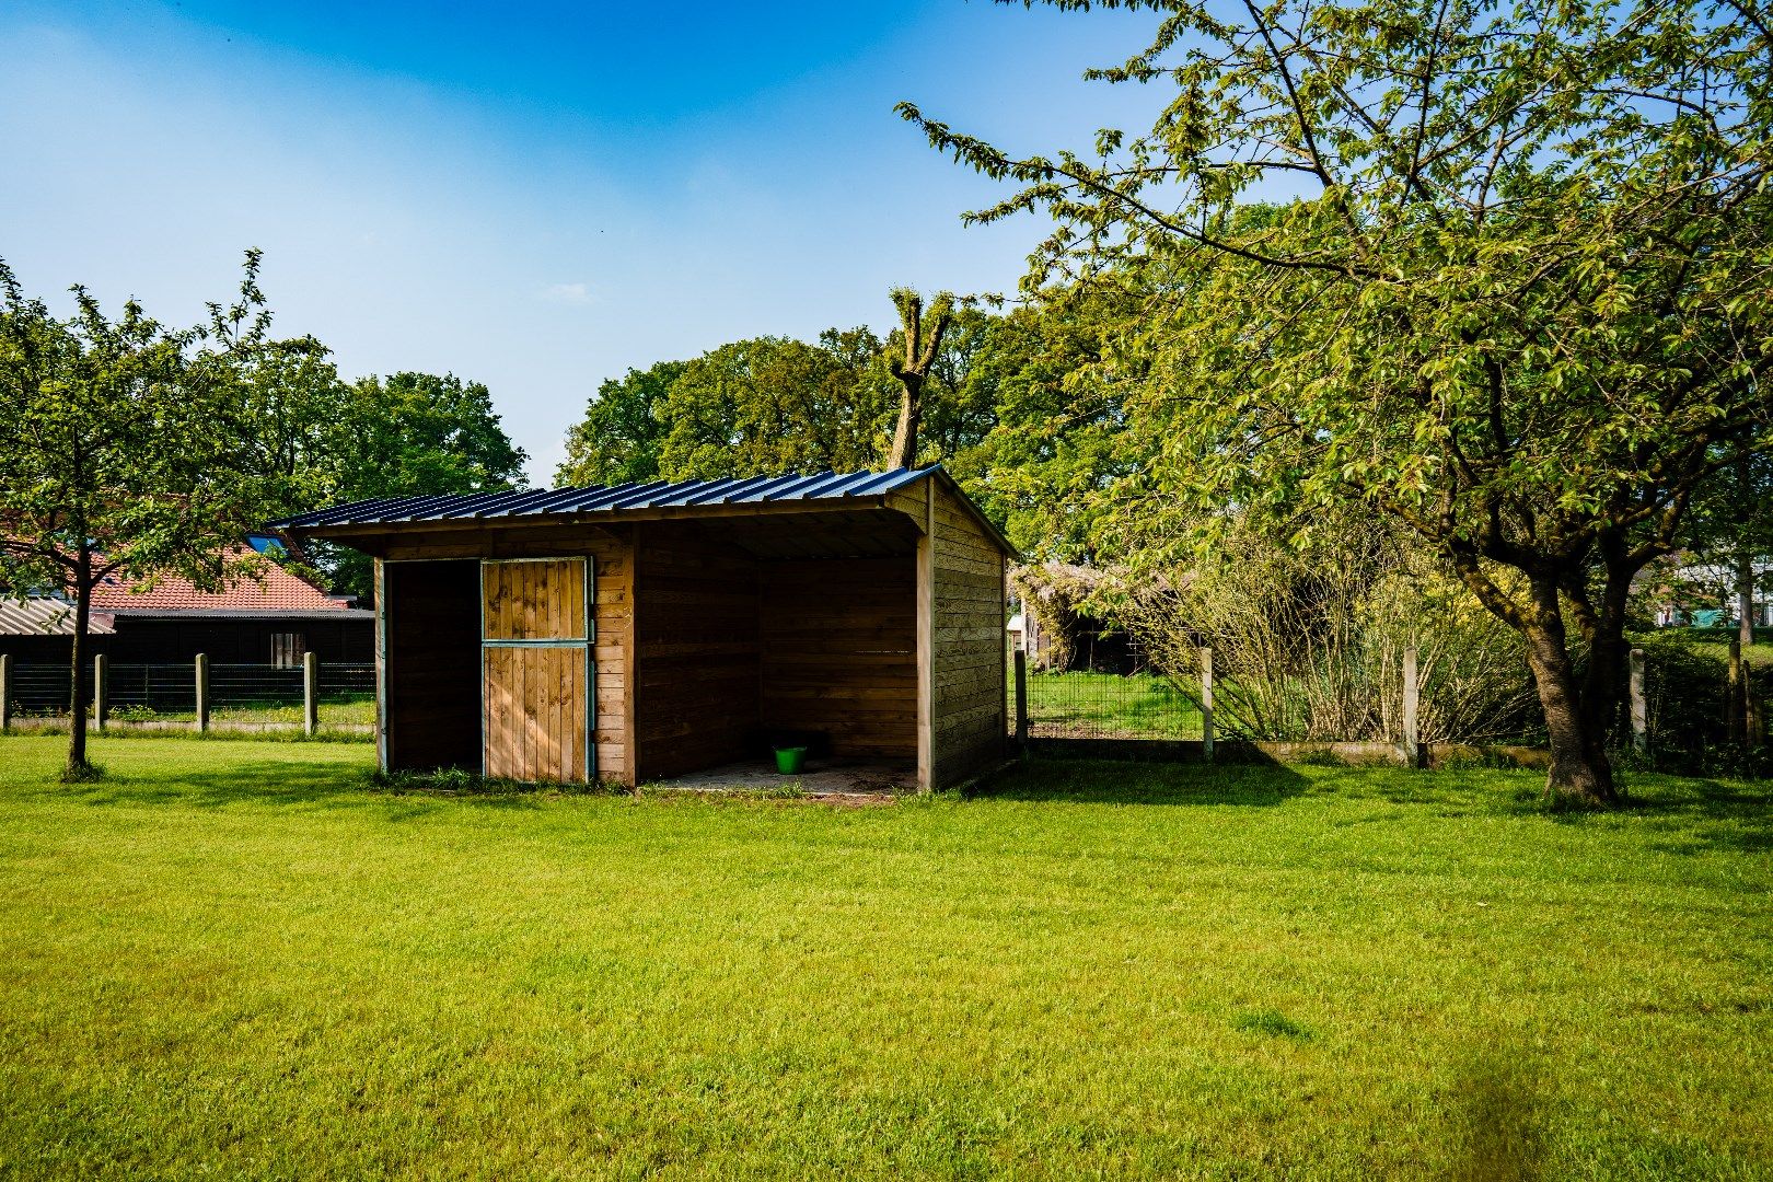
{"label": "blue-grey corrugated metal roof of the wooden shed", "polygon": [[402,521],[463,521],[495,517],[553,517],[629,509],[693,505],[748,505],[764,502],[842,502],[881,496],[941,471],[899,468],[894,471],[821,471],[801,477],[752,477],[725,480],[652,480],[583,489],[527,489],[518,493],[456,493],[450,496],[397,496],[321,509],[273,521],[275,528],[309,530],[332,525],[392,525]]}

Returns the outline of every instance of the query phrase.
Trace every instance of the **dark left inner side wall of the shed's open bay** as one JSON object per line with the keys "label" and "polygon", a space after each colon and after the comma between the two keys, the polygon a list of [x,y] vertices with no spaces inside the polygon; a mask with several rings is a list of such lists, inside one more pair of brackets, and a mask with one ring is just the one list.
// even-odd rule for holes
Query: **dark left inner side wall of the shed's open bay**
{"label": "dark left inner side wall of the shed's open bay", "polygon": [[759,564],[716,533],[637,526],[638,774],[743,758],[761,725]]}

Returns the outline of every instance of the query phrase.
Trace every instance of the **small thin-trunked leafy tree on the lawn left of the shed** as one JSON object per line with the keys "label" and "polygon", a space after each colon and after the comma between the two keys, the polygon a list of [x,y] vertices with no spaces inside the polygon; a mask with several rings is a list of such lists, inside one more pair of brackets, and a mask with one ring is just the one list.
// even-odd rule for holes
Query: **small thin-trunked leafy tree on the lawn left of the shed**
{"label": "small thin-trunked leafy tree on the lawn left of the shed", "polygon": [[252,564],[241,535],[273,503],[243,370],[269,317],[246,253],[239,299],[174,330],[133,299],[112,319],[74,287],[71,319],[0,262],[0,581],[73,603],[67,780],[87,760],[92,588],[179,574],[215,590]]}

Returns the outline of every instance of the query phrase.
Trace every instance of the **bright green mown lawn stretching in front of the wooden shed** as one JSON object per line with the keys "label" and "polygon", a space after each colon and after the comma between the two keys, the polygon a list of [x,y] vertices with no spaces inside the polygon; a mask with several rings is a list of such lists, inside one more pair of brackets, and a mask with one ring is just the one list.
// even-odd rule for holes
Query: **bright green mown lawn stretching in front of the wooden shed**
{"label": "bright green mown lawn stretching in front of the wooden shed", "polygon": [[1037,764],[839,810],[0,737],[12,1177],[1773,1175],[1766,785]]}

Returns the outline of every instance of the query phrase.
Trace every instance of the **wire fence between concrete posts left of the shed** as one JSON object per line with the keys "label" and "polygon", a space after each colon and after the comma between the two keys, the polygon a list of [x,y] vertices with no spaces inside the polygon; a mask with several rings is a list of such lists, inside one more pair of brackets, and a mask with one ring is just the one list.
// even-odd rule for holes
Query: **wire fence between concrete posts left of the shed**
{"label": "wire fence between concrete posts left of the shed", "polygon": [[[321,725],[371,725],[376,719],[374,665],[319,665],[316,707]],[[20,718],[67,714],[66,665],[12,668],[11,705]],[[105,670],[106,714],[115,721],[195,721],[197,665],[113,663]],[[98,686],[94,686],[98,689]],[[209,716],[250,723],[301,723],[303,670],[275,665],[209,665]]]}

